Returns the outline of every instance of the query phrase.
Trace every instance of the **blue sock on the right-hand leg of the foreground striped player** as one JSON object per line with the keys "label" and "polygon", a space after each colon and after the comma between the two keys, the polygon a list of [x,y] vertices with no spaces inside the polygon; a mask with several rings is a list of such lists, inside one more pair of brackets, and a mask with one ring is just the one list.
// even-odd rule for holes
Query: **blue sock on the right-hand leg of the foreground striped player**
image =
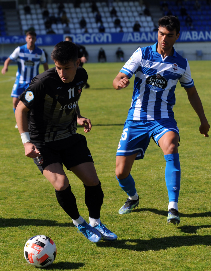
{"label": "blue sock on the right-hand leg of the foreground striped player", "polygon": [[180,191],[180,160],[179,153],[164,155],[166,160],[166,186],[169,194],[169,202],[178,202]]}

